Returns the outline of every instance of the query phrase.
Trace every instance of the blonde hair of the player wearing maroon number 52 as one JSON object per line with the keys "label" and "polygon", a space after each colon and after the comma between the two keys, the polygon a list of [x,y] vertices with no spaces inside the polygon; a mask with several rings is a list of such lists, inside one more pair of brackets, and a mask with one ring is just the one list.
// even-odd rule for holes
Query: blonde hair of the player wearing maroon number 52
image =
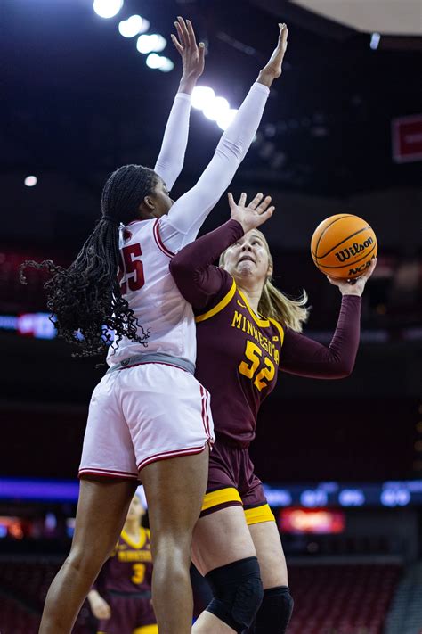
{"label": "blonde hair of the player wearing maroon number 52", "polygon": [[[264,234],[257,229],[253,229],[259,235],[264,243],[268,254],[268,260],[272,265],[272,254],[270,247],[266,241]],[[230,248],[230,247],[229,247]],[[224,257],[227,250],[220,256],[220,267],[224,268]],[[308,296],[305,291],[297,299],[291,299],[272,284],[272,276],[268,276],[265,280],[261,299],[258,304],[258,312],[267,319],[275,319],[281,325],[287,325],[288,328],[301,333],[304,323],[309,317],[309,309],[306,308]]]}

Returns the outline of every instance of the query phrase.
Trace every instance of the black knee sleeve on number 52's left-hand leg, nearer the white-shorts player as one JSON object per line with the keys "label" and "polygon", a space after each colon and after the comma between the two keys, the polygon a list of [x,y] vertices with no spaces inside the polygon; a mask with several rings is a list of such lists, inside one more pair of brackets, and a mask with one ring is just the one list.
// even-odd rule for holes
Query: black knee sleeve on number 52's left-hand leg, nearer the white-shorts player
{"label": "black knee sleeve on number 52's left-hand leg, nearer the white-shorts player", "polygon": [[239,559],[207,573],[214,598],[207,611],[232,630],[242,632],[254,621],[263,599],[263,584],[256,557]]}

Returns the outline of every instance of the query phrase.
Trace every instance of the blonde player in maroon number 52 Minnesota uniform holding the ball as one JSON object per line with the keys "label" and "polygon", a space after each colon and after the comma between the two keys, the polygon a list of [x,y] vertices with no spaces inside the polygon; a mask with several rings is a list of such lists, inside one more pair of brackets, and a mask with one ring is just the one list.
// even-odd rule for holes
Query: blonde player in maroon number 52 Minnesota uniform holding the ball
{"label": "blonde player in maroon number 52 Minnesota uniform holding the ball", "polygon": [[[239,205],[229,196],[232,219],[186,246],[170,265],[196,314],[196,376],[211,392],[216,436],[193,543],[194,563],[207,577],[214,599],[192,631],[217,634],[252,627],[249,631],[256,634],[280,634],[288,627],[293,600],[280,535],[248,446],[255,438],[260,404],[274,388],[279,368],[326,379],[352,372],[361,294],[375,260],[353,285],[329,278],[343,298],[326,348],[300,334],[306,296],[288,300],[271,284],[271,254],[256,230],[272,213],[267,209],[271,199],[263,201],[258,194],[245,207],[246,194]],[[222,253],[220,267],[213,266]],[[258,588],[263,601],[254,622],[248,597]]]}

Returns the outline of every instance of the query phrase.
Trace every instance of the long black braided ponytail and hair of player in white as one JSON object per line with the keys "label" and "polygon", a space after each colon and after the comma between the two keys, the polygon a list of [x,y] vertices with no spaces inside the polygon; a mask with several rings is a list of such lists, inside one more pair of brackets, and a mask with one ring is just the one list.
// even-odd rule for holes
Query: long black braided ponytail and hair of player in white
{"label": "long black braided ponytail and hair of player in white", "polygon": [[69,268],[27,260],[20,265],[20,281],[27,284],[23,270],[45,268],[51,278],[45,283],[47,308],[58,335],[76,343],[73,356],[91,357],[110,344],[109,330],[116,342],[123,336],[147,345],[148,334],[137,323],[134,311],[122,297],[118,284],[120,225],[139,217],[143,198],[158,184],[157,174],[142,165],[125,165],[107,180],[101,196],[101,218]]}

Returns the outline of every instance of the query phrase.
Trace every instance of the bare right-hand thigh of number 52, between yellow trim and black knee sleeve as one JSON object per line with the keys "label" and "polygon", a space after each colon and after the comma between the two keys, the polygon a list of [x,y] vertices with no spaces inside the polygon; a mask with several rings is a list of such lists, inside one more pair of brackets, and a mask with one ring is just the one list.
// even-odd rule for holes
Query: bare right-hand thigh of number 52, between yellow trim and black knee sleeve
{"label": "bare right-hand thigh of number 52, between yellow trim and black knee sleeve", "polygon": [[256,548],[264,589],[287,586],[288,569],[277,524],[262,522],[248,528]]}

